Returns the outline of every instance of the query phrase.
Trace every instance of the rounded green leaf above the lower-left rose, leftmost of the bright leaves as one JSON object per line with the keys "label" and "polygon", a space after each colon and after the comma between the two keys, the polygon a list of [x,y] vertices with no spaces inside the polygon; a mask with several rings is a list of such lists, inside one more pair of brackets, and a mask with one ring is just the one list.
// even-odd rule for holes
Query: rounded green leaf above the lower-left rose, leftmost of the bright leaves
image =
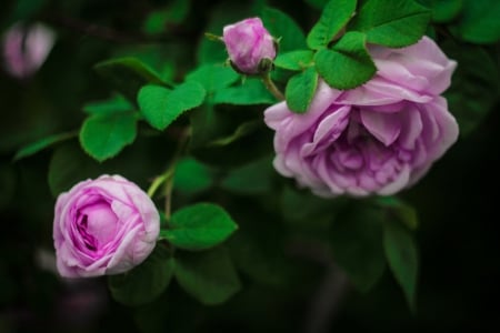
{"label": "rounded green leaf above the lower-left rose, leftmost of the bright leaves", "polygon": [[137,114],[120,112],[89,117],[80,131],[83,150],[102,162],[117,155],[137,135]]}

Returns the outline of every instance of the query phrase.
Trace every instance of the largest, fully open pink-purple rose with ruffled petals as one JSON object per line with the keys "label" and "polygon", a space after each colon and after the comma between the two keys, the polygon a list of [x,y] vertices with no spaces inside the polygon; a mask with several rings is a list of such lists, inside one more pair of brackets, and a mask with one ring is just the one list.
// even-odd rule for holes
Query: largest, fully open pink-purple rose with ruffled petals
{"label": "largest, fully open pink-purple rose with ruffled petals", "polygon": [[390,195],[414,184],[458,138],[440,97],[457,65],[423,37],[389,49],[370,46],[377,74],[340,91],[323,81],[307,113],[286,102],[266,110],[274,168],[321,196]]}

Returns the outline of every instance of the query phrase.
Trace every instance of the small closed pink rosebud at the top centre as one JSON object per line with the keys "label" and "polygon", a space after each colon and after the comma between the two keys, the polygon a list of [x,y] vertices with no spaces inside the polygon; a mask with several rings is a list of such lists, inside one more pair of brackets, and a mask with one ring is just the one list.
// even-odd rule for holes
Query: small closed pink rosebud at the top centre
{"label": "small closed pink rosebud at the top centre", "polygon": [[242,73],[257,74],[262,59],[276,58],[274,40],[259,18],[226,26],[222,40],[232,64]]}

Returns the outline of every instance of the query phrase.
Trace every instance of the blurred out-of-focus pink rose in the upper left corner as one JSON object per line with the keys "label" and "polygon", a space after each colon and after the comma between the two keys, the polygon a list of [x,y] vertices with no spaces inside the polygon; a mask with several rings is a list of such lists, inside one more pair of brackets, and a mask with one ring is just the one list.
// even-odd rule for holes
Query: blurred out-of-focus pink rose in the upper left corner
{"label": "blurred out-of-focus pink rose in the upper left corner", "polygon": [[46,61],[54,41],[54,32],[41,23],[13,26],[3,37],[6,70],[19,79],[32,75]]}

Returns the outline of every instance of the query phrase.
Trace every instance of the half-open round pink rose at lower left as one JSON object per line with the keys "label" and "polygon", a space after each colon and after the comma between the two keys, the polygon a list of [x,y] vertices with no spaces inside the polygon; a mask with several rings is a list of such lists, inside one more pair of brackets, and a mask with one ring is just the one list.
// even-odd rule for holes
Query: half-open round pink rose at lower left
{"label": "half-open round pink rose at lower left", "polygon": [[160,216],[151,199],[120,175],[76,184],[56,203],[57,268],[66,278],[118,274],[154,249]]}

